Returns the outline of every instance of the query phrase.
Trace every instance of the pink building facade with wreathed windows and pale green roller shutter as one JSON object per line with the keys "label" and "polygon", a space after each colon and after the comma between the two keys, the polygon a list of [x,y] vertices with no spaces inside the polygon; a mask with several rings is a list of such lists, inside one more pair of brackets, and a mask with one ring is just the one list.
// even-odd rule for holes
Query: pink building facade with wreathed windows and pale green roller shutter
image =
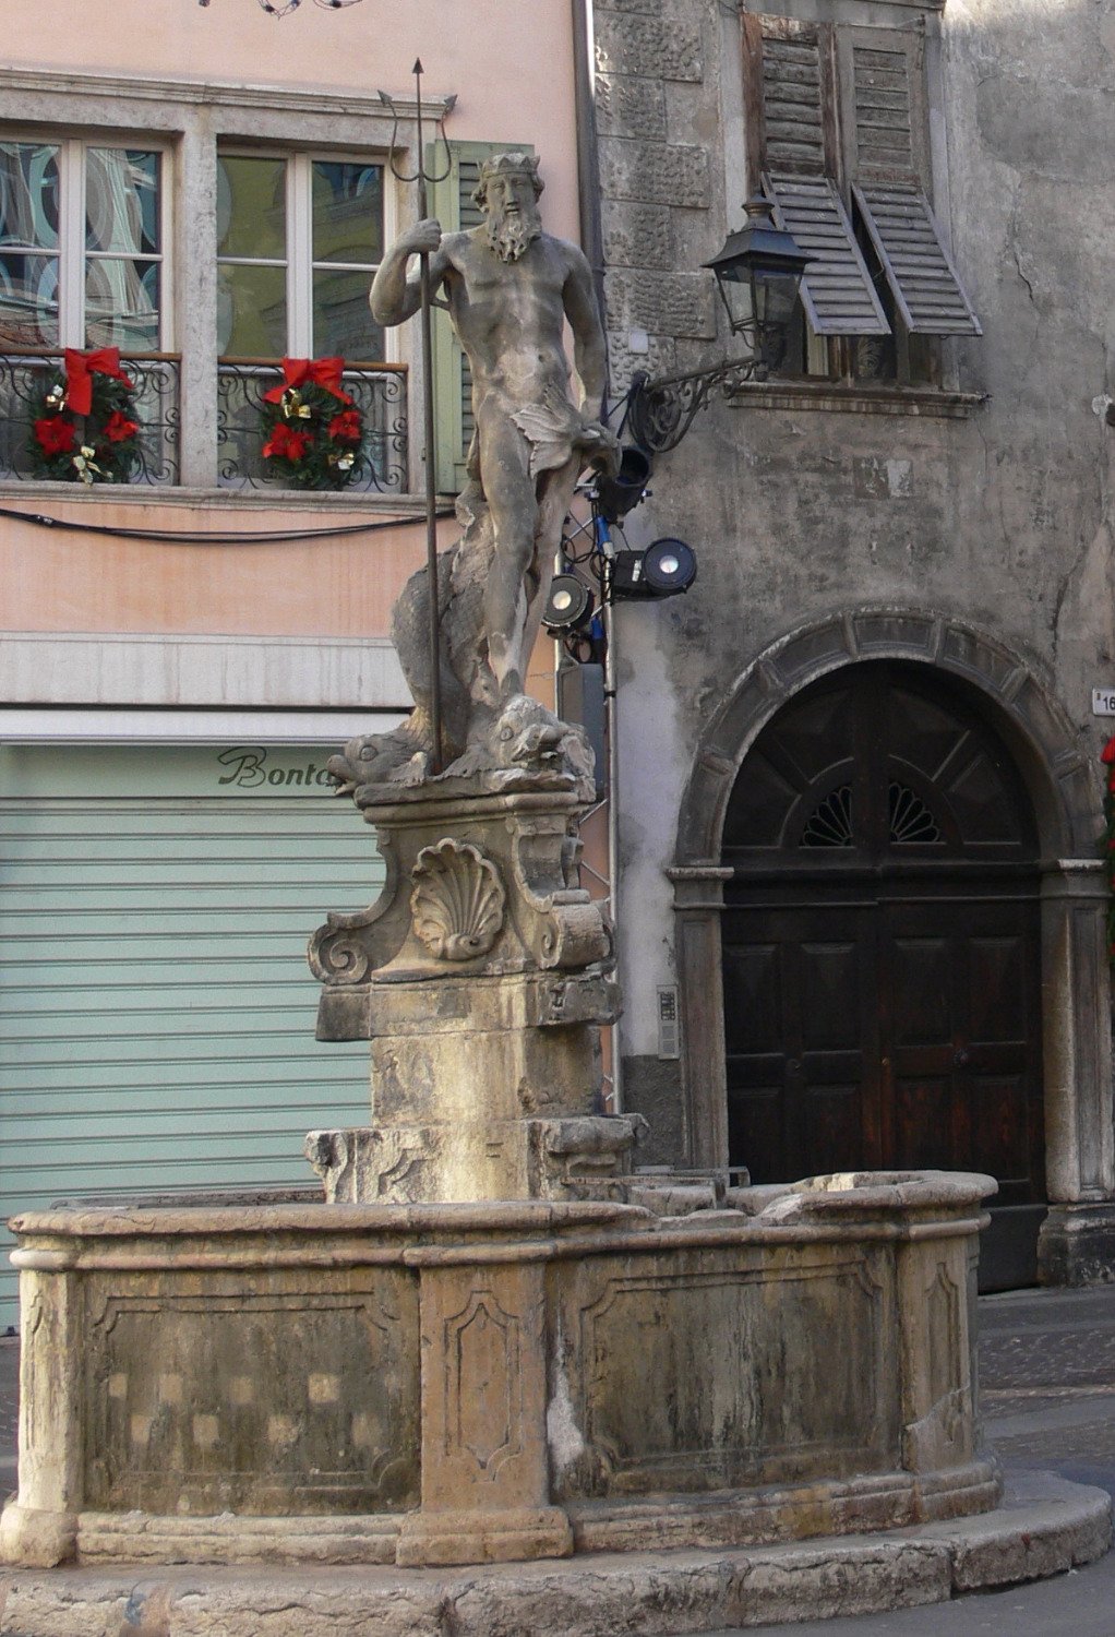
{"label": "pink building facade with wreathed windows and pale green roller shutter", "polygon": [[[547,228],[576,239],[576,8],[116,0],[90,28],[79,0],[8,0],[5,23],[0,1203],[296,1184],[306,1125],[367,1102],[359,1058],[314,1048],[301,961],[380,868],[324,758],[409,704],[388,616],[424,553],[418,332],[367,309],[416,213],[378,92],[404,174],[414,59],[437,113],[455,98],[445,226],[475,219],[485,152],[530,147]],[[80,424],[46,471],[64,349],[120,350],[126,473],[108,442],[80,457]],[[262,458],[265,393],[321,357],[345,360],[363,440],[345,486],[300,489]],[[452,493],[447,329],[434,363]]]}

